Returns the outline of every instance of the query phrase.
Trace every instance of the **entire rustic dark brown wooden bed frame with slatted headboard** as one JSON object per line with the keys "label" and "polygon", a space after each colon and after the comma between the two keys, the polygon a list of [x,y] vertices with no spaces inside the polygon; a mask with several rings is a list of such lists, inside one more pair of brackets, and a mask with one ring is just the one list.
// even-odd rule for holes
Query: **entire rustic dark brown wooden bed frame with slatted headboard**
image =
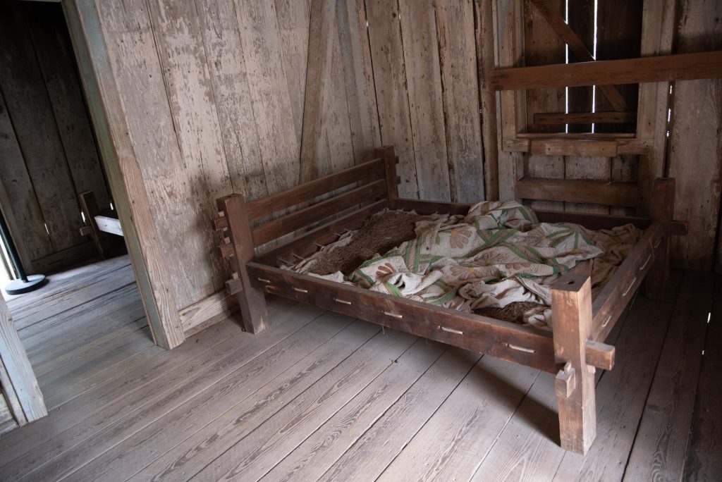
{"label": "entire rustic dark brown wooden bed frame with slatted headboard", "polygon": [[[448,310],[367,289],[326,281],[278,266],[305,258],[319,246],[337,239],[345,229],[357,229],[371,214],[386,207],[414,209],[419,214],[466,214],[468,204],[401,199],[398,196],[393,146],[375,150],[378,159],[282,193],[245,202],[240,194],[217,200],[214,226],[223,233],[222,255],[230,262],[227,292],[240,304],[245,330],[258,333],[269,324],[265,295],[277,294],[326,310],[496,356],[510,362],[557,373],[561,445],[586,453],[596,437],[594,371],[614,366],[614,346],[604,343],[643,279],[654,299],[664,295],[669,274],[669,236],[684,235],[684,222],[672,219],[674,180],[656,180],[650,218],[536,211],[541,222],[574,222],[590,229],[632,223],[644,234],[612,279],[592,302],[587,276],[562,276],[552,286],[554,331]],[[342,193],[339,188],[352,185]],[[309,203],[324,193],[332,197]],[[300,209],[253,227],[251,222],[301,204]],[[357,207],[350,214],[298,235],[290,242],[256,256],[254,248],[307,228],[313,222]],[[358,208],[358,206],[362,206]]]}

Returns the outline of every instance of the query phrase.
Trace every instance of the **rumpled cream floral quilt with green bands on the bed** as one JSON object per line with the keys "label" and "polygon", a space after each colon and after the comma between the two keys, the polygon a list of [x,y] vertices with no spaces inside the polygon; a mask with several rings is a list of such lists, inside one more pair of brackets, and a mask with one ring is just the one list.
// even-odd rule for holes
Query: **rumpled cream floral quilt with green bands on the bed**
{"label": "rumpled cream floral quilt with green bands on the bed", "polygon": [[[636,230],[630,226],[616,235],[631,247],[630,229]],[[612,231],[596,233],[575,224],[539,223],[534,211],[516,202],[485,201],[466,216],[418,222],[414,240],[375,255],[348,277],[340,272],[321,277],[456,310],[511,302],[549,306],[549,284],[560,273],[603,255],[600,245],[615,253],[626,250],[627,244],[610,237]],[[294,269],[312,274],[313,258]],[[531,313],[526,321],[551,325],[551,311]]]}

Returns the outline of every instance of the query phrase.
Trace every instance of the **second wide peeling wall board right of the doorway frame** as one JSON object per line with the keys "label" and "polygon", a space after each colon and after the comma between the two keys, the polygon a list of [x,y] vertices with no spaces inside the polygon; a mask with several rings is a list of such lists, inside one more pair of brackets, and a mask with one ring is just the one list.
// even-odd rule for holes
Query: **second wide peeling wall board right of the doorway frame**
{"label": "second wide peeling wall board right of the doorway frame", "polygon": [[[179,286],[175,286],[181,308],[223,286],[225,263],[212,248],[217,237],[210,221],[217,215],[214,199],[231,193],[232,186],[196,5],[163,0],[148,4],[173,130],[181,152],[180,166],[185,171],[183,177],[179,176],[181,190],[175,196],[186,193],[191,201],[185,204],[188,211],[179,213],[183,225],[188,227],[186,233],[178,233],[184,245],[178,243],[175,247],[183,253],[183,270],[193,273],[179,279]],[[181,246],[183,249],[179,249]],[[181,296],[183,288],[188,289],[187,297]]]}

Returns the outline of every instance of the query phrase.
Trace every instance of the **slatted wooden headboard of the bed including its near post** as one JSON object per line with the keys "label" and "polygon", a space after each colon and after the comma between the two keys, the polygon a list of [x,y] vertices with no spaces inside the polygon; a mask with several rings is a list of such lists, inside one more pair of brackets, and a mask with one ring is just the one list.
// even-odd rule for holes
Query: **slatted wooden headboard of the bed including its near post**
{"label": "slatted wooden headboard of the bed including its near post", "polygon": [[[248,276],[248,263],[256,259],[256,247],[297,232],[344,209],[367,204],[341,219],[311,229],[264,255],[264,259],[271,260],[273,264],[278,264],[279,261],[282,263],[281,258],[284,255],[302,258],[313,253],[319,241],[331,242],[339,235],[339,229],[356,229],[370,214],[391,206],[391,201],[398,197],[398,159],[393,152],[393,146],[375,149],[375,154],[377,159],[254,201],[246,202],[240,194],[217,199],[219,217],[214,219],[213,226],[222,232],[223,242],[219,249],[231,267],[231,279],[226,281],[226,291],[235,294],[238,299],[245,330],[258,333],[268,325],[264,292],[254,289]],[[304,206],[318,196],[349,185],[355,187]],[[253,219],[297,205],[303,207],[257,227],[251,227]]]}

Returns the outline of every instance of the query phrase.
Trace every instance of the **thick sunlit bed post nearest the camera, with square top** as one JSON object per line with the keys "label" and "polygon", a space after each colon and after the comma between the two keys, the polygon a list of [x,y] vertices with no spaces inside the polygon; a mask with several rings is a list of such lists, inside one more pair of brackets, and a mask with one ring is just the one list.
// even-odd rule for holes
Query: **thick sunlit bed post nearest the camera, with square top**
{"label": "thick sunlit bed post nearest the camera, with square top", "polygon": [[552,285],[554,357],[564,368],[554,380],[562,448],[586,454],[596,437],[594,367],[586,363],[591,333],[591,281],[567,274]]}

